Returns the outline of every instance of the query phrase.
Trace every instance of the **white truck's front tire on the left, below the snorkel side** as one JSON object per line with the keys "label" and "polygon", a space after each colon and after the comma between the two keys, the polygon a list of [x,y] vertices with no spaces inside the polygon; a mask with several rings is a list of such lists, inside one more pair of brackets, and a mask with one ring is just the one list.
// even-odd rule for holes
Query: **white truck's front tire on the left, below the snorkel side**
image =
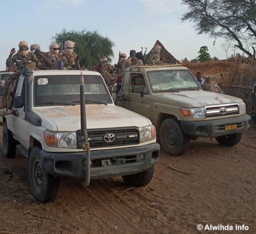
{"label": "white truck's front tire on the left, below the snorkel side", "polygon": [[34,147],[28,158],[28,182],[32,195],[39,203],[54,201],[60,178],[48,175],[39,160],[40,147]]}

